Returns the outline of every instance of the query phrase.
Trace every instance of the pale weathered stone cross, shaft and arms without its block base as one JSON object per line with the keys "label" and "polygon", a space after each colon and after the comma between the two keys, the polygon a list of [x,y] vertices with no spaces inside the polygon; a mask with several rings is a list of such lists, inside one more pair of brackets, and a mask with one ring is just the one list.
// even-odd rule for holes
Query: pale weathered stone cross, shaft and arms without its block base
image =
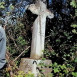
{"label": "pale weathered stone cross, shaft and arms without its block base", "polygon": [[43,56],[44,51],[46,17],[53,18],[54,15],[46,8],[46,4],[41,0],[35,4],[31,4],[28,9],[33,14],[38,15],[33,23],[30,58],[40,59]]}

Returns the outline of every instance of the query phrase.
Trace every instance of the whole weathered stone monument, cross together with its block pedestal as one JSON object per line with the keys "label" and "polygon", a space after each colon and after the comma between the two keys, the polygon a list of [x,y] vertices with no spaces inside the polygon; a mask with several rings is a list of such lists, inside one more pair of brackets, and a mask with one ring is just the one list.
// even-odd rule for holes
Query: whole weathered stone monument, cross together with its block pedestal
{"label": "whole weathered stone monument, cross together with its block pedestal", "polygon": [[[31,43],[31,55],[30,59],[21,59],[20,70],[25,73],[31,71],[35,77],[38,75],[37,65],[41,62],[41,57],[44,51],[45,42],[45,28],[46,28],[46,17],[53,18],[54,15],[51,13],[44,3],[46,0],[36,0],[35,4],[31,4],[28,9],[38,15],[33,23],[32,32],[32,43]],[[50,64],[50,60],[45,60],[45,64]]]}

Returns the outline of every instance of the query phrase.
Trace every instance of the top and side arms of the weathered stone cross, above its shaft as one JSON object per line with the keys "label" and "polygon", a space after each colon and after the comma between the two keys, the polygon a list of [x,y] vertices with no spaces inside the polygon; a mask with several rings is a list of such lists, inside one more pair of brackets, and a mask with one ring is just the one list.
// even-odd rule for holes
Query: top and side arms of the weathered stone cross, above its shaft
{"label": "top and side arms of the weathered stone cross, above its shaft", "polygon": [[[42,6],[43,5],[43,6]],[[42,1],[39,1],[38,3],[35,3],[35,4],[31,4],[28,9],[33,13],[33,14],[36,14],[36,15],[43,15],[45,14],[46,17],[48,18],[53,18],[54,15],[53,13],[51,13],[51,11],[49,11],[47,8],[46,8],[46,4],[43,3]]]}

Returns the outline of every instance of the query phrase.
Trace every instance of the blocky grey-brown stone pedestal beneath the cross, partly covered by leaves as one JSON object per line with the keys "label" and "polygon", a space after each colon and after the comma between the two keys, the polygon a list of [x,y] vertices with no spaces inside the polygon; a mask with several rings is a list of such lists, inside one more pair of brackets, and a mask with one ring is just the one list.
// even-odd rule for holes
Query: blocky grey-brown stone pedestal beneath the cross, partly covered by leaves
{"label": "blocky grey-brown stone pedestal beneath the cross, partly covered by leaves", "polygon": [[[24,73],[28,73],[29,71],[34,73],[35,77],[40,75],[41,73],[45,75],[45,77],[48,77],[47,75],[51,73],[52,69],[49,67],[40,66],[40,63],[42,65],[49,65],[51,64],[51,60],[34,60],[34,59],[28,59],[28,58],[22,58],[21,63],[19,66],[19,69],[21,71],[24,71]],[[42,71],[41,71],[42,70]],[[40,77],[40,76],[38,76]]]}

